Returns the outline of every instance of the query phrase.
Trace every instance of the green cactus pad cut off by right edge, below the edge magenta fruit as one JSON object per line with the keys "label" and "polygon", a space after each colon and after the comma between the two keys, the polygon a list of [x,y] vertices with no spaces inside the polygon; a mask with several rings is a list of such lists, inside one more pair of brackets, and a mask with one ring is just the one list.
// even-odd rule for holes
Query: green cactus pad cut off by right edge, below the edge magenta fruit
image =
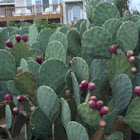
{"label": "green cactus pad cut off by right edge, below the edge magenta fruit", "polygon": [[125,122],[136,133],[140,133],[140,97],[136,97],[128,106]]}

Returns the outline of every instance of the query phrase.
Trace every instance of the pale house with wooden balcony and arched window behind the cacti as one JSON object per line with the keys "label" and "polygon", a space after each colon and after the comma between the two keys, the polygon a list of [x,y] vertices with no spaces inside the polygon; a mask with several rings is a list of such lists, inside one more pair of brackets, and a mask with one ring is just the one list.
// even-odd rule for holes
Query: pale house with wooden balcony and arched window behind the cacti
{"label": "pale house with wooden balcony and arched window behind the cacti", "polygon": [[0,0],[0,22],[60,19],[64,24],[86,18],[81,0]]}

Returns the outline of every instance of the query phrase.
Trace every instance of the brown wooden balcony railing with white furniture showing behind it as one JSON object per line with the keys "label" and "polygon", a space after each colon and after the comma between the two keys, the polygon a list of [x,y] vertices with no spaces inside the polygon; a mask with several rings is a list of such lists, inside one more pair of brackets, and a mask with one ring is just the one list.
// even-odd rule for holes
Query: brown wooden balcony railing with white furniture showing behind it
{"label": "brown wooden balcony railing with white furniture showing behind it", "polygon": [[31,16],[31,15],[47,15],[62,14],[62,5],[32,5],[24,7],[2,7],[0,8],[0,17],[12,16]]}

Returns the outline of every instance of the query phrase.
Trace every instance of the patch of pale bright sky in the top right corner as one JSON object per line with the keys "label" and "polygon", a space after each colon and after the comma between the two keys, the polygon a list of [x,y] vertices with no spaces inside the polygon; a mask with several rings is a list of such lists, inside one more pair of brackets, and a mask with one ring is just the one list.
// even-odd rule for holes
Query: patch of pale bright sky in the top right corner
{"label": "patch of pale bright sky in the top right corner", "polygon": [[137,10],[140,13],[140,0],[130,0],[129,10],[130,12]]}

